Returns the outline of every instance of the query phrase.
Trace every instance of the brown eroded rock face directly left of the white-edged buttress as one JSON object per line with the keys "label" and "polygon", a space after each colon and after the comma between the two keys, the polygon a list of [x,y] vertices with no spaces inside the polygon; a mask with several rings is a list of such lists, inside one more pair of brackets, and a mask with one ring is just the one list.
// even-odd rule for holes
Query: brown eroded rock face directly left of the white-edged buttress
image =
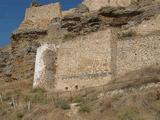
{"label": "brown eroded rock face directly left of the white-edged buttress", "polygon": [[15,32],[12,35],[12,78],[15,80],[33,80],[34,65],[39,39],[47,34],[44,30],[35,29]]}

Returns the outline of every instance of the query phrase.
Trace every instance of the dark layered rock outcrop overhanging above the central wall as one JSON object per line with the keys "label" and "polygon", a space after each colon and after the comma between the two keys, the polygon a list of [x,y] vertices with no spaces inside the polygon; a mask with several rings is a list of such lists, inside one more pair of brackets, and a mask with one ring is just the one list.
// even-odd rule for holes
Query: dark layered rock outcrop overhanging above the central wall
{"label": "dark layered rock outcrop overhanging above the central wall", "polygon": [[76,35],[107,27],[129,28],[159,14],[160,4],[129,7],[104,7],[90,14],[73,14],[62,18],[62,29]]}

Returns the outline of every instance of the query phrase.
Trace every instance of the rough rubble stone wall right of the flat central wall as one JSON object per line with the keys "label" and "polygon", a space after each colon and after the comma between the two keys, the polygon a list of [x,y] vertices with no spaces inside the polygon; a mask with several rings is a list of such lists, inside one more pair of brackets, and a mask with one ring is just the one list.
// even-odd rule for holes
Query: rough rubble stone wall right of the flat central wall
{"label": "rough rubble stone wall right of the flat central wall", "polygon": [[150,35],[117,41],[117,77],[160,65],[160,36]]}

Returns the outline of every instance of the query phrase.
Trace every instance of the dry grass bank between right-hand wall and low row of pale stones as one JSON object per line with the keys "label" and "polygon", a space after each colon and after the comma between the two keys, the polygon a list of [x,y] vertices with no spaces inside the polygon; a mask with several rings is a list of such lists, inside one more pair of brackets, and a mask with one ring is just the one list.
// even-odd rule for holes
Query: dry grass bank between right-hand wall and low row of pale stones
{"label": "dry grass bank between right-hand wall and low row of pale stones", "polygon": [[106,91],[126,88],[139,88],[142,85],[160,82],[160,69],[157,67],[147,67],[136,71],[131,71],[110,82],[105,86]]}

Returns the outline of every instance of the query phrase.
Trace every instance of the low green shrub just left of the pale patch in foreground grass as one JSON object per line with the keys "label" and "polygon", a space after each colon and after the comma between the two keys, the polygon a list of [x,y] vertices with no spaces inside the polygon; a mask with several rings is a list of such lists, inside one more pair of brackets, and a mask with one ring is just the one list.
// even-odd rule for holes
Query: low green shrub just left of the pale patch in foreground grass
{"label": "low green shrub just left of the pale patch in foreground grass", "polygon": [[63,100],[63,99],[58,99],[58,100],[55,102],[55,107],[56,107],[56,108],[62,108],[63,110],[68,110],[68,109],[70,109],[69,102],[66,101],[66,100]]}

